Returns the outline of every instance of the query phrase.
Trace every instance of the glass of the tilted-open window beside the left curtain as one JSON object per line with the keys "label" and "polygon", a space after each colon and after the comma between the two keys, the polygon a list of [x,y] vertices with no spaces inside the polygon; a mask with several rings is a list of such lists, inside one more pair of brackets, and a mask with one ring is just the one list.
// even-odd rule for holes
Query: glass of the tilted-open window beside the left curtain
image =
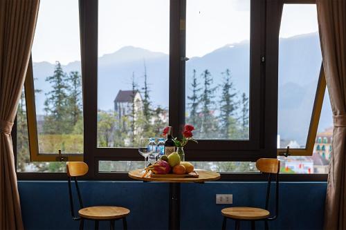
{"label": "glass of the tilted-open window beside the left curtain", "polygon": [[83,153],[78,0],[42,0],[33,41],[39,153]]}

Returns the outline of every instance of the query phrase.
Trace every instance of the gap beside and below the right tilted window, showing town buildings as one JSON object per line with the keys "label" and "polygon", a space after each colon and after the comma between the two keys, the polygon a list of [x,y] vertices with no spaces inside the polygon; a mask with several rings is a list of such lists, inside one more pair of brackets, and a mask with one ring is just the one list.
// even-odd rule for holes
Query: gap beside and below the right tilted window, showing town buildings
{"label": "gap beside and below the right tilted window, showing town buildings", "polygon": [[279,157],[281,173],[328,173],[332,150],[332,117],[329,95],[326,90],[316,140],[313,145],[313,155],[311,157]]}

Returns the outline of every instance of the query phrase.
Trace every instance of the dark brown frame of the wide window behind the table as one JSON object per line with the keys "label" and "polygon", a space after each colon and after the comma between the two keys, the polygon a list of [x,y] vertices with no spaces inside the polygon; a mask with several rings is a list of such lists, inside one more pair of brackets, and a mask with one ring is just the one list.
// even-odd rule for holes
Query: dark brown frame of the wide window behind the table
{"label": "dark brown frame of the wide window behind the table", "polygon": [[[176,127],[181,126],[185,123],[185,61],[181,61],[181,57],[185,57],[185,14],[186,14],[186,1],[179,0],[174,1],[170,0],[170,113],[169,120],[170,125],[174,127],[174,134],[177,134]],[[242,143],[237,141],[234,142],[231,146],[230,143],[222,141],[219,144],[221,149],[218,151],[202,151],[201,148],[208,147],[208,140],[200,141],[199,145],[191,145],[186,148],[188,151],[187,160],[193,161],[254,161],[260,157],[276,157],[277,148],[276,148],[276,135],[277,135],[277,75],[278,75],[278,35],[280,31],[280,20],[282,7],[284,3],[315,3],[315,1],[268,1],[265,0],[251,0],[251,21],[253,18],[253,11],[256,12],[255,18],[257,23],[260,26],[254,27],[251,23],[251,39],[253,39],[253,33],[257,34],[258,41],[256,51],[256,57],[260,60],[256,60],[257,65],[256,70],[259,72],[259,76],[256,81],[260,83],[260,89],[253,89],[256,86],[253,82],[253,77],[251,77],[251,90],[257,92],[257,97],[254,96],[254,93],[251,93],[249,101],[250,104],[257,107],[250,107],[250,110],[256,110],[259,116],[254,116],[254,113],[250,113],[250,124],[256,122],[257,126],[255,127],[255,138],[253,142],[246,148],[239,148]],[[100,173],[98,171],[98,162],[100,160],[143,160],[143,157],[138,155],[136,148],[98,148],[97,147],[97,85],[98,85],[98,1],[79,1],[80,5],[80,41],[81,41],[81,69],[82,69],[82,90],[83,90],[83,115],[84,115],[84,154],[81,157],[81,154],[78,156],[73,156],[69,154],[69,160],[84,160],[89,164],[89,172],[84,177],[88,180],[129,180],[127,173],[118,172],[118,173]],[[253,6],[259,6],[260,10],[253,10]],[[262,61],[262,57],[264,60]],[[251,63],[255,59],[254,55],[251,55]],[[31,71],[31,73],[30,73]],[[31,92],[30,95],[33,95],[33,80],[30,82],[29,79],[33,79],[32,73],[32,61],[30,59],[30,64],[28,66],[28,80],[26,80],[26,88],[29,88],[28,92]],[[255,81],[255,82],[256,82]],[[31,86],[31,89],[30,89]],[[183,87],[180,87],[183,86]],[[179,97],[172,97],[172,89],[176,93],[174,95],[179,95]],[[270,90],[268,90],[270,89]],[[31,90],[31,91],[30,91]],[[177,92],[178,90],[178,92]],[[257,90],[257,91],[256,91]],[[27,90],[26,90],[27,92]],[[34,95],[35,96],[35,95]],[[29,103],[30,103],[30,96]],[[256,101],[258,99],[258,101]],[[31,102],[35,102],[31,98]],[[87,103],[86,103],[87,102]],[[254,102],[258,102],[254,104]],[[28,102],[27,102],[28,103]],[[34,103],[35,106],[35,103]],[[35,108],[35,107],[32,107]],[[172,110],[172,108],[176,108]],[[254,109],[257,108],[257,109]],[[28,110],[28,109],[27,109]],[[35,109],[33,110],[35,112]],[[34,114],[30,115],[33,117]],[[31,119],[30,119],[31,120]],[[35,120],[35,119],[34,119]],[[33,122],[28,122],[31,129],[35,128]],[[253,129],[253,128],[252,128]],[[15,132],[16,128],[14,128]],[[35,130],[35,129],[34,129]],[[87,131],[87,132],[86,132]],[[251,131],[253,132],[253,131]],[[253,137],[252,134],[251,137]],[[14,137],[16,133],[14,134]],[[35,133],[30,134],[31,138],[34,137]],[[37,138],[37,131],[36,131]],[[212,140],[215,142],[215,140]],[[16,141],[13,142],[15,145]],[[35,143],[35,141],[34,141]],[[38,143],[38,142],[37,142]],[[203,146],[203,147],[202,147]],[[244,145],[243,145],[244,146]],[[15,157],[17,159],[17,146],[15,148]],[[38,149],[38,146],[31,146],[30,151],[33,148],[33,153],[35,148]],[[232,148],[232,149],[229,149]],[[116,155],[113,155],[114,151],[117,151]],[[202,153],[202,154],[201,154]],[[42,154],[37,155],[37,157],[50,157],[49,159],[56,159],[56,154],[49,154],[45,156]],[[73,158],[78,157],[78,158]],[[35,158],[35,155],[31,159]],[[45,158],[41,158],[45,159]],[[48,159],[48,158],[46,158]],[[44,160],[46,161],[46,160]],[[40,178],[44,179],[60,179],[64,178],[64,173],[17,173],[19,179],[35,179]],[[257,173],[222,173],[221,180],[241,180],[241,178],[260,178],[257,177]],[[289,178],[291,175],[284,175],[284,178]],[[293,178],[298,178],[299,175],[292,175]],[[325,175],[304,175],[300,178],[316,178],[316,180],[325,180]]]}

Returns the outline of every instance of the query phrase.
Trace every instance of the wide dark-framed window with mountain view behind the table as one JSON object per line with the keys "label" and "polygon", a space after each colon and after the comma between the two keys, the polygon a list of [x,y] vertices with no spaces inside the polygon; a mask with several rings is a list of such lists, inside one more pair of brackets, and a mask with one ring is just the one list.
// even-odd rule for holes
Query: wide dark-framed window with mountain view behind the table
{"label": "wide dark-framed window with mountain view behind the table", "polygon": [[[190,123],[199,144],[185,147],[186,158],[200,168],[255,172],[255,160],[289,146],[297,158],[284,158],[282,173],[321,172],[325,161],[317,169],[305,158],[316,150],[328,160],[331,149],[331,139],[320,135],[325,80],[316,6],[284,4],[282,17],[268,10],[281,6],[43,0],[26,107],[17,117],[18,171],[30,167],[19,154],[30,146],[33,171],[60,160],[62,149],[69,160],[89,164],[87,178],[113,178],[141,166],[140,137],[157,137],[167,124],[178,137]],[[325,144],[325,155],[315,140]]]}

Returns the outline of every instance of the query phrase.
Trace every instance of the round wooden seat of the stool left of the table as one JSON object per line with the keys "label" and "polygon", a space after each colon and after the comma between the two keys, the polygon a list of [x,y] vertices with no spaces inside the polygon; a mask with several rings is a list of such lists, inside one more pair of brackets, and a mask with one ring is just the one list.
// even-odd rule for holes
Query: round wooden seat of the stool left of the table
{"label": "round wooden seat of the stool left of the table", "polygon": [[129,209],[114,206],[94,206],[80,209],[80,217],[93,220],[113,220],[129,214]]}

